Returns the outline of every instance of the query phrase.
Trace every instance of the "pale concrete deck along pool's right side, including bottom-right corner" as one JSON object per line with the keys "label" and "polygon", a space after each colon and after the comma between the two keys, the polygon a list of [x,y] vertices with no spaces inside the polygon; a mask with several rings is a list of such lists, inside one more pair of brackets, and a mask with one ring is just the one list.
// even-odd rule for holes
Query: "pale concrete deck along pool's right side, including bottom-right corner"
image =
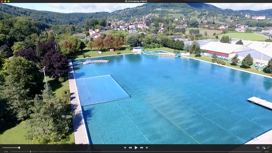
{"label": "pale concrete deck along pool's right side, including bottom-right corner", "polygon": [[[193,59],[193,60],[197,60],[197,61],[202,61],[202,62],[206,62],[206,63],[218,65],[218,66],[222,66],[222,67],[225,67],[225,68],[230,68],[230,69],[234,69],[234,70],[238,70],[238,71],[242,71],[242,72],[246,72],[246,73],[251,73],[251,74],[255,74],[255,75],[259,75],[259,76],[262,76],[262,77],[266,77],[266,78],[271,78],[272,79],[272,77],[270,77],[270,76],[266,76],[266,75],[262,75],[262,74],[257,74],[257,73],[254,73],[254,72],[248,72],[248,71],[244,71],[244,70],[240,70],[240,69],[236,69],[236,68],[232,68],[232,67],[228,67],[228,66],[224,66],[224,65],[219,65],[217,63],[212,63],[212,62],[208,62],[208,61],[194,59],[194,58],[191,58],[191,57],[185,57],[185,58],[189,58],[189,59]],[[253,138],[252,140],[250,140],[250,141],[248,141],[248,142],[246,142],[244,144],[272,144],[272,130],[270,130],[268,132],[265,132],[262,135],[260,135],[260,136],[258,136],[256,138]]]}

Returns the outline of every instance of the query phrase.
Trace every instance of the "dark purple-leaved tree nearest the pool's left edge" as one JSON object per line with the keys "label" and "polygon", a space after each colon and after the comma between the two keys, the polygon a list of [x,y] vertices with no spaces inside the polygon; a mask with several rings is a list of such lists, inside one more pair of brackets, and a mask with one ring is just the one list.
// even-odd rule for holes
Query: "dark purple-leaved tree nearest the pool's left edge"
{"label": "dark purple-leaved tree nearest the pool's left edge", "polygon": [[54,79],[58,79],[63,74],[67,74],[67,63],[66,57],[54,49],[49,50],[43,60],[43,66],[46,66],[46,74]]}

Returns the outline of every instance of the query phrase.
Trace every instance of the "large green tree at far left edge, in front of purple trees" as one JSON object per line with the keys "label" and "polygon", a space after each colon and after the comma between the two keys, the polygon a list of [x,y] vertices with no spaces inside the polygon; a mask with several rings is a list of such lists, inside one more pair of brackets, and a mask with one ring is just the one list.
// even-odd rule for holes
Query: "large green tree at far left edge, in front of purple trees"
{"label": "large green tree at far left edge, in front of purple trees", "polygon": [[18,119],[25,119],[31,113],[32,98],[43,89],[43,74],[34,62],[22,57],[7,60],[2,74],[5,79],[3,95],[9,99],[9,109]]}

